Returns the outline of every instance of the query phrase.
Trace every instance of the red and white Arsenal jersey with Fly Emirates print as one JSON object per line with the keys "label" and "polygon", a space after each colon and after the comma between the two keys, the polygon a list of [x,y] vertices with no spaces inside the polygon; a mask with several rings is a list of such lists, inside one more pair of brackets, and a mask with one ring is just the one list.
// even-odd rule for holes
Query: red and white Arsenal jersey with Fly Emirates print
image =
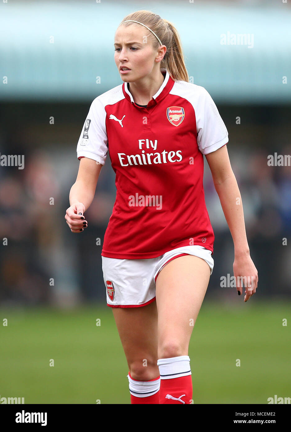
{"label": "red and white Arsenal jersey with Fly Emirates print", "polygon": [[77,157],[116,174],[116,200],[101,255],[155,258],[181,246],[213,252],[214,234],[203,190],[203,154],[228,143],[228,131],[204,87],[164,82],[146,108],[128,83],[94,99],[77,144]]}

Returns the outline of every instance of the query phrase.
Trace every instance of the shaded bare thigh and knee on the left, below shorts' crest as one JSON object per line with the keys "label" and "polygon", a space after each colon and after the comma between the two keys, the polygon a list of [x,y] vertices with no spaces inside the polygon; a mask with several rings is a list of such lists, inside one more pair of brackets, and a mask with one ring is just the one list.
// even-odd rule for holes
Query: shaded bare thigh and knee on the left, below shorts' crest
{"label": "shaded bare thigh and knee on the left, below shorts' crest", "polygon": [[137,308],[112,308],[130,375],[139,381],[159,376],[156,302]]}

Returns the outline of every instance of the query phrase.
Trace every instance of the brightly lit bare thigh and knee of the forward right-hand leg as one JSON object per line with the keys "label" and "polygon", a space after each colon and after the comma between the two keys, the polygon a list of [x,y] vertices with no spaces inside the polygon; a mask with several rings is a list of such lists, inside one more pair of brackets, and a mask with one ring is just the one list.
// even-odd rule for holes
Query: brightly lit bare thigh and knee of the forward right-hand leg
{"label": "brightly lit bare thigh and knee of the forward right-hand leg", "polygon": [[156,280],[158,358],[187,356],[190,337],[210,278],[209,265],[193,255],[166,264]]}

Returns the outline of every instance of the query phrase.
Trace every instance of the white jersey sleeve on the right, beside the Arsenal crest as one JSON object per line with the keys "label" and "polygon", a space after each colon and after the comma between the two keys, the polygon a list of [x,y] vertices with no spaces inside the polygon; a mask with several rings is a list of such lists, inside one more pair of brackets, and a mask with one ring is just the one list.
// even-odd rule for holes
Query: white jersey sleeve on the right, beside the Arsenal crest
{"label": "white jersey sleeve on the right, beside the Arsenal crest", "polygon": [[199,111],[196,115],[197,144],[204,155],[228,143],[228,130],[212,97],[201,87]]}

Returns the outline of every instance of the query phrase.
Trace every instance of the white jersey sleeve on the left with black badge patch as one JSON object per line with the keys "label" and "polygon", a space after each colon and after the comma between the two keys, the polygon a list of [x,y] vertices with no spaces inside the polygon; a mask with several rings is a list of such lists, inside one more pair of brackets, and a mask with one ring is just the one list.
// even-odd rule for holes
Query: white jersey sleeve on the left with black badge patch
{"label": "white jersey sleeve on the left with black badge patch", "polygon": [[77,158],[94,159],[104,165],[107,156],[106,111],[98,98],[92,102],[77,144]]}

